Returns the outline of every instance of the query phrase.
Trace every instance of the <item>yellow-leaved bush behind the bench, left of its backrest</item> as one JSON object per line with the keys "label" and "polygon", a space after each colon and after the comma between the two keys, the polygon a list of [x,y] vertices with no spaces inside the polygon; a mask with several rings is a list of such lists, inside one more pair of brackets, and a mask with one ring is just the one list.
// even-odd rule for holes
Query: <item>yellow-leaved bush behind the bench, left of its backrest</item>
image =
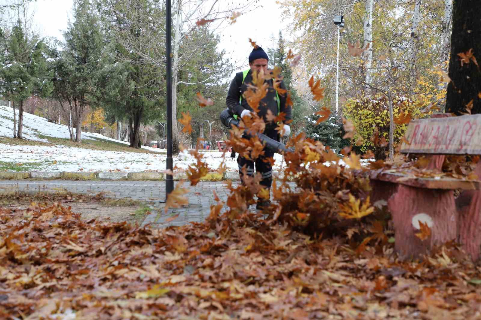
{"label": "yellow-leaved bush behind the bench, left of its backrest", "polygon": [[[418,118],[423,108],[422,103],[416,103],[406,97],[394,97],[392,110],[394,119],[401,112],[407,112],[411,117]],[[389,104],[386,96],[350,98],[342,105],[342,114],[349,119],[355,127],[353,141],[362,137],[362,145],[358,151],[364,153],[371,150],[376,159],[384,159],[389,146],[375,146],[371,141],[375,127],[379,130],[379,138],[384,137],[389,142]],[[394,124],[394,148],[405,134],[407,124]]]}

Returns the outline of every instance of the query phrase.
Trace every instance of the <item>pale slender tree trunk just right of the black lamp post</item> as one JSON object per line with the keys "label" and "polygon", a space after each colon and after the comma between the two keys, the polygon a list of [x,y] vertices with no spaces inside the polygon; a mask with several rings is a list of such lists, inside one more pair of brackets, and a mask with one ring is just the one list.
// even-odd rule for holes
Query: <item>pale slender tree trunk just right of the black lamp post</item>
{"label": "pale slender tree trunk just right of the black lamp post", "polygon": [[174,27],[174,50],[172,59],[172,154],[179,153],[179,130],[177,127],[177,75],[179,72],[179,46],[180,46],[180,19],[181,19],[181,0],[177,0],[177,17]]}

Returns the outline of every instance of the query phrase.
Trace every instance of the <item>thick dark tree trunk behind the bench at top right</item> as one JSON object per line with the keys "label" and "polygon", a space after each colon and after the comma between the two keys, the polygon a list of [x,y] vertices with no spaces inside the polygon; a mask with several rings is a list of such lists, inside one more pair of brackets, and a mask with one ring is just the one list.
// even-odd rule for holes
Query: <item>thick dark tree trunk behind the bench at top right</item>
{"label": "thick dark tree trunk behind the bench at top right", "polygon": [[[481,58],[481,2],[479,0],[454,0],[453,33],[451,35],[451,57],[449,59],[449,77],[446,96],[446,112],[460,115],[467,112],[481,113],[481,72],[472,59],[462,62],[458,53],[466,54],[469,50]],[[481,63],[481,59],[478,63]],[[462,63],[462,65],[461,65]]]}

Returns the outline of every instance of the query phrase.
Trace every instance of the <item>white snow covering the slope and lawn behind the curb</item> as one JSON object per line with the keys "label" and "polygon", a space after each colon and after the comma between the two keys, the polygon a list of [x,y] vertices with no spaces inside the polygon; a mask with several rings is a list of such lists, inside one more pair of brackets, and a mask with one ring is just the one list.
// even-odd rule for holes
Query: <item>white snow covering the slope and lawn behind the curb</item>
{"label": "white snow covering the slope and lawn behind the curb", "polygon": [[[18,111],[17,111],[18,112]],[[18,116],[18,113],[17,113]],[[17,117],[18,119],[18,117]],[[70,138],[66,125],[50,123],[45,118],[24,112],[24,137],[28,140],[48,142],[38,135],[45,135],[57,138]],[[13,109],[0,106],[0,136],[13,136]],[[103,139],[115,142],[119,141],[104,135],[82,132],[82,139]],[[57,146],[15,146],[0,143],[0,161],[29,164],[31,171],[65,171],[65,172],[101,172],[101,171],[163,171],[166,169],[165,149],[142,148],[163,152],[159,154],[90,150],[84,148]],[[219,168],[223,159],[223,153],[218,151],[202,151],[204,161],[209,169]],[[237,162],[231,161],[230,153],[226,153],[226,167],[228,171],[237,171]],[[275,169],[279,169],[282,156],[274,156]],[[174,158],[174,166],[185,169],[196,160],[188,154],[180,154]]]}

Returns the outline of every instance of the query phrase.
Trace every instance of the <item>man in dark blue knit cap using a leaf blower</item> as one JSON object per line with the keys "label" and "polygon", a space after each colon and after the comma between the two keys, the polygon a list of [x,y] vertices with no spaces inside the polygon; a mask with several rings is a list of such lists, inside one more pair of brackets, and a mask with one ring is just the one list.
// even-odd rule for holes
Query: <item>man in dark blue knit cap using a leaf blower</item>
{"label": "man in dark blue knit cap using a leaf blower", "polygon": [[[229,110],[240,116],[241,118],[250,117],[253,109],[247,103],[245,98],[242,98],[242,94],[247,90],[247,83],[252,83],[252,73],[264,71],[267,74],[267,62],[269,57],[266,52],[261,47],[256,47],[252,50],[249,55],[249,66],[250,70],[237,73],[230,83],[229,91],[227,94],[226,104]],[[264,97],[259,104],[259,117],[264,118],[266,123],[266,129],[264,134],[270,138],[279,141],[279,133],[276,130],[278,126],[277,123],[267,122],[266,114],[270,110],[274,115],[278,115],[279,112],[284,112],[286,114],[285,121],[289,123],[291,120],[291,107],[286,106],[286,94],[278,94],[273,87],[273,79],[265,80],[269,84],[268,92],[266,97]],[[286,89],[286,86],[281,81],[280,88]],[[289,125],[284,124],[284,136],[291,134],[291,128]],[[270,162],[265,162],[267,158],[272,158],[274,152],[264,148],[264,156],[259,157],[255,160],[255,170],[262,175],[261,185],[267,189],[270,189],[272,185],[272,165]],[[243,182],[242,167],[246,167],[247,174],[250,176],[254,175],[254,161],[247,160],[244,157],[237,158],[237,163],[239,164],[239,174],[241,176],[241,181]],[[271,202],[269,199],[258,199],[256,209],[266,209],[270,206]]]}

